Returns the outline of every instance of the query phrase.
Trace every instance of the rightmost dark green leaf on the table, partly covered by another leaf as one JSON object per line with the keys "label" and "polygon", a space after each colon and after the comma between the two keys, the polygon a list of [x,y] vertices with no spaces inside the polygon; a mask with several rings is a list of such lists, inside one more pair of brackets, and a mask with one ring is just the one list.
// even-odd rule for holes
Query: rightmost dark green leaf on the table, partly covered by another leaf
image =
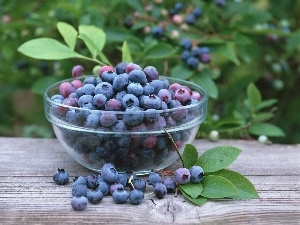
{"label": "rightmost dark green leaf on the table, partly covered by another leaf", "polygon": [[254,185],[242,174],[232,170],[219,170],[213,175],[221,176],[228,179],[237,188],[237,194],[230,196],[233,199],[252,199],[259,198]]}

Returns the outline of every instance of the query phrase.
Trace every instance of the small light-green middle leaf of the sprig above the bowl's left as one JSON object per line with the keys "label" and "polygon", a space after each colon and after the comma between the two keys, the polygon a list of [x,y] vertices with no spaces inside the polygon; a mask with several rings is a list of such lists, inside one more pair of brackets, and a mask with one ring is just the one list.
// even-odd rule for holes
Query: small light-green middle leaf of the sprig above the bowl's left
{"label": "small light-green middle leaf of the sprig above the bowl's left", "polygon": [[58,22],[57,29],[59,33],[62,35],[62,37],[64,38],[66,44],[72,50],[74,50],[76,45],[77,35],[78,35],[77,30],[73,26],[65,22]]}

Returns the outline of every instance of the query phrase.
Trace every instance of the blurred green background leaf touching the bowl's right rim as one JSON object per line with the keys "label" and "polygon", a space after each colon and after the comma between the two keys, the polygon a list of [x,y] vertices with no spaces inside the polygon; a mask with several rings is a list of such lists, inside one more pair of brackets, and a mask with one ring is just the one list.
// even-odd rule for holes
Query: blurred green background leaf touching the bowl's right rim
{"label": "blurred green background leaf touching the bowl's right rim", "polygon": [[211,77],[210,70],[204,70],[199,74],[194,74],[191,81],[203,87],[210,97],[218,98],[218,87]]}

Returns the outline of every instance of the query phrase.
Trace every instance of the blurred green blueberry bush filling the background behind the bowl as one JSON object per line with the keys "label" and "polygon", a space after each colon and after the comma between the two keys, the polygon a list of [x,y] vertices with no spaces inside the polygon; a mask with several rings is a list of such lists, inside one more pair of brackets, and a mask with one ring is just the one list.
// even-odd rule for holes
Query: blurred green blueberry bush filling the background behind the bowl
{"label": "blurred green blueberry bush filling the background behind the bowl", "polygon": [[[116,65],[125,47],[126,59],[206,88],[208,117],[199,138],[217,131],[221,138],[299,143],[299,9],[292,0],[0,0],[0,135],[53,137],[43,113],[45,88],[71,77],[74,65],[85,74]],[[59,22],[100,28],[101,62],[18,51],[41,37],[64,43]],[[84,39],[79,35],[74,48],[90,57]]]}

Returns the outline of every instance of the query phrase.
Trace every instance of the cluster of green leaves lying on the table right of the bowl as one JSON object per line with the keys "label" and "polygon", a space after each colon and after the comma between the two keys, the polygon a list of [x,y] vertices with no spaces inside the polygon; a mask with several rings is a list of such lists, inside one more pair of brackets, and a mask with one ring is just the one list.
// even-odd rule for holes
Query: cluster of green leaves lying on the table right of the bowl
{"label": "cluster of green leaves lying on the table right of the bowl", "polygon": [[186,144],[182,154],[185,167],[201,166],[205,176],[200,183],[179,185],[183,196],[196,205],[203,205],[208,199],[259,198],[254,185],[245,176],[226,169],[241,152],[233,146],[216,146],[198,156],[196,147]]}

